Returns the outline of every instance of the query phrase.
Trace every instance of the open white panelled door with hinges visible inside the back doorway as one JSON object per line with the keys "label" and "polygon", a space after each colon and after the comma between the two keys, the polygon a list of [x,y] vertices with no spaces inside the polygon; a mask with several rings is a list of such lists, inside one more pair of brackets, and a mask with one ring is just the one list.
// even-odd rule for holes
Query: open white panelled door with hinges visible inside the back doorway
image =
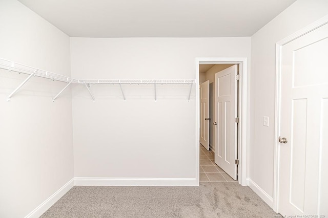
{"label": "open white panelled door with hinges visible inside the back doorway", "polygon": [[215,163],[237,179],[237,65],[215,74],[214,145]]}

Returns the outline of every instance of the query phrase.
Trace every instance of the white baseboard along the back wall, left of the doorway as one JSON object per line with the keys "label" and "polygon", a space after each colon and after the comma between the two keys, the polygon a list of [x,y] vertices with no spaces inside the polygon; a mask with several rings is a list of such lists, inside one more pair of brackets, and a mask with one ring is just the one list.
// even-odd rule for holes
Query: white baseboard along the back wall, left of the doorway
{"label": "white baseboard along the back wall, left of the doorway", "polygon": [[196,178],[88,178],[75,177],[77,186],[198,186]]}

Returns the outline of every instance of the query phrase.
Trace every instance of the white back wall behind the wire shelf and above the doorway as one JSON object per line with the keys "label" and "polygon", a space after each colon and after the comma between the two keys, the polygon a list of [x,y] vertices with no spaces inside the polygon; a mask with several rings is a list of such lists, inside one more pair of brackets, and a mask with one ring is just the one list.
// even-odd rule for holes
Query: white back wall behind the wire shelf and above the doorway
{"label": "white back wall behind the wire shelf and above the doorway", "polygon": [[[195,79],[196,57],[247,57],[250,38],[71,38],[72,76]],[[73,86],[75,177],[195,178],[195,89]],[[195,87],[195,86],[194,86]],[[170,89],[171,89],[170,88]],[[196,89],[198,91],[198,87]],[[198,145],[197,145],[198,147]],[[197,172],[198,173],[198,172]]]}

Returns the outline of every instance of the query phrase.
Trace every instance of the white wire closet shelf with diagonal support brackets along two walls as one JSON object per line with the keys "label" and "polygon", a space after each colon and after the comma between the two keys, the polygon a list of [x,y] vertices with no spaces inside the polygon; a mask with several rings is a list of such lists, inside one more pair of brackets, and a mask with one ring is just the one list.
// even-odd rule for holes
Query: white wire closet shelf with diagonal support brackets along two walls
{"label": "white wire closet shelf with diagonal support brackets along two walls", "polygon": [[22,86],[32,77],[42,77],[46,79],[51,79],[54,81],[66,82],[66,86],[52,99],[53,101],[62,93],[64,90],[72,83],[75,84],[83,84],[88,89],[88,92],[91,95],[93,101],[95,98],[90,90],[91,84],[119,84],[122,96],[126,101],[124,92],[122,90],[121,84],[153,84],[154,85],[154,93],[155,93],[155,101],[157,100],[156,96],[156,84],[190,84],[190,91],[188,96],[188,101],[190,100],[191,90],[194,83],[196,83],[195,79],[74,79],[71,77],[67,77],[61,74],[53,73],[50,71],[45,71],[38,68],[33,68],[27,66],[25,64],[17,63],[14,61],[6,60],[0,58],[0,69],[5,69],[12,72],[28,74],[29,76],[18,85],[18,87],[8,96],[7,100],[10,101],[11,97],[20,89]]}

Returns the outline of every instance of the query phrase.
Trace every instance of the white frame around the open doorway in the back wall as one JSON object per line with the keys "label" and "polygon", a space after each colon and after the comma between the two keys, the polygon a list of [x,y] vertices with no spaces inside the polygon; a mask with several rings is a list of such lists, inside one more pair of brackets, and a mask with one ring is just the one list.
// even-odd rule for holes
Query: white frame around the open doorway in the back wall
{"label": "white frame around the open doorway in the back wall", "polygon": [[[245,57],[198,57],[196,58],[196,85],[199,85],[199,64],[238,64],[239,66],[239,99],[238,99],[238,183],[247,186],[249,133],[248,126],[248,72]],[[198,89],[196,89],[198,90]],[[199,184],[199,92],[196,91],[196,182]]]}

